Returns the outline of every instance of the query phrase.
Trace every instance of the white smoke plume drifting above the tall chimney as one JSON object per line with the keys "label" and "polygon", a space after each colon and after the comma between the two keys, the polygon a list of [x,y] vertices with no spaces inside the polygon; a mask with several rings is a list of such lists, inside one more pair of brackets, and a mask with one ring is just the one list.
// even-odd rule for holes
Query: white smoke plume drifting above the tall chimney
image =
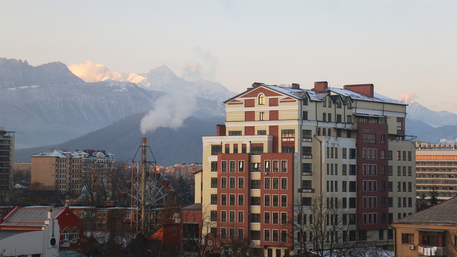
{"label": "white smoke plume drifting above the tall chimney", "polygon": [[177,129],[196,110],[197,99],[187,92],[172,92],[154,103],[154,110],[144,115],[140,123],[141,133],[154,132],[158,128]]}

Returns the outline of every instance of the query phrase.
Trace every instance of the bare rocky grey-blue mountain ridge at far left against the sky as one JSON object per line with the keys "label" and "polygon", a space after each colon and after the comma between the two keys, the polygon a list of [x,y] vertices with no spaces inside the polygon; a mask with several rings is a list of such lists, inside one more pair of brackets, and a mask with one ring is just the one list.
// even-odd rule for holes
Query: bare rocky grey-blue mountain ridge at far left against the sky
{"label": "bare rocky grey-blue mountain ridge at far left against the sky", "polygon": [[0,88],[84,82],[61,62],[32,66],[27,61],[6,58],[0,58],[0,76]]}

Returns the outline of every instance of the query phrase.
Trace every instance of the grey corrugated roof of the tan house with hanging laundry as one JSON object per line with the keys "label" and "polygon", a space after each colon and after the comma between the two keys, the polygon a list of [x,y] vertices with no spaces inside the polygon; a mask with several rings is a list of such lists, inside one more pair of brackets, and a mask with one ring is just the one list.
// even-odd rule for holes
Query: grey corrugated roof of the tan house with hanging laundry
{"label": "grey corrugated roof of the tan house with hanging laundry", "polygon": [[399,219],[395,223],[457,224],[457,196]]}

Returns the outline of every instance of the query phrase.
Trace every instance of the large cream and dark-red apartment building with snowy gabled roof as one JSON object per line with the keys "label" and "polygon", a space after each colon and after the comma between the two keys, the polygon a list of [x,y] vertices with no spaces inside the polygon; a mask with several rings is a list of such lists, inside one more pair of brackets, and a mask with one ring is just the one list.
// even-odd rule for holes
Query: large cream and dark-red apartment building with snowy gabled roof
{"label": "large cream and dark-red apartment building with snowy gabled roof", "polygon": [[218,244],[250,238],[254,254],[268,257],[312,249],[293,247],[297,233],[285,224],[301,219],[297,206],[326,198],[325,208],[345,211],[327,225],[348,224],[335,238],[392,246],[389,222],[414,213],[415,148],[406,104],[373,89],[254,83],[225,101],[226,122],[202,138],[195,177],[195,202],[209,206]]}

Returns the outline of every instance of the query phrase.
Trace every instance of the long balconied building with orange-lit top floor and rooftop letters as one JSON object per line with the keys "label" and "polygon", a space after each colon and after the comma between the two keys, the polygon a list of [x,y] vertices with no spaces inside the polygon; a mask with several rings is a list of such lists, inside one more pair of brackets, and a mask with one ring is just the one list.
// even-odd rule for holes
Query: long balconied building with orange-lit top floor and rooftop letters
{"label": "long balconied building with orange-lit top floor and rooftop letters", "polygon": [[416,143],[416,194],[430,197],[433,187],[440,201],[457,196],[455,144]]}

